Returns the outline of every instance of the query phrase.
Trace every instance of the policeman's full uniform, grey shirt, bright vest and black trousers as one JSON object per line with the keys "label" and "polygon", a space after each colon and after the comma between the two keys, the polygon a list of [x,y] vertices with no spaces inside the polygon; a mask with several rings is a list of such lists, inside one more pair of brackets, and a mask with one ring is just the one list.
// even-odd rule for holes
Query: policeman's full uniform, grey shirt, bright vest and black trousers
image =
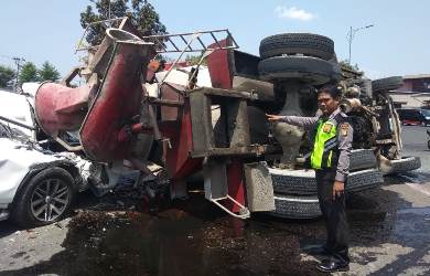
{"label": "policeman's full uniform, grey shirt, bright vest and black trousers", "polygon": [[353,129],[348,118],[337,108],[330,116],[286,116],[281,121],[311,130],[313,147],[309,161],[315,170],[320,209],[327,231],[325,250],[340,262],[347,264],[350,258],[345,194],[342,193],[333,200],[333,184],[335,180],[345,183],[350,173]]}

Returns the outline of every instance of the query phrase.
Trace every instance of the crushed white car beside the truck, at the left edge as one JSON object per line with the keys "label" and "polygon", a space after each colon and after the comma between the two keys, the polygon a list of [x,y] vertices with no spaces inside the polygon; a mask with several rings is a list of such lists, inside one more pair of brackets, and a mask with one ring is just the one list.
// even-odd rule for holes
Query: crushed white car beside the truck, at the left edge
{"label": "crushed white car beside the truck, at the left edge", "polygon": [[[40,226],[63,219],[86,185],[90,162],[35,141],[31,97],[0,91],[0,220]],[[19,127],[10,121],[18,121]]]}

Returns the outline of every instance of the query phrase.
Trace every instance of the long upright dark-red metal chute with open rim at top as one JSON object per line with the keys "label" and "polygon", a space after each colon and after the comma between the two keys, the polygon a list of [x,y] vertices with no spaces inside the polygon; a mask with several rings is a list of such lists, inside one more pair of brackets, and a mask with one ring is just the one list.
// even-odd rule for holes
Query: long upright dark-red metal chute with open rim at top
{"label": "long upright dark-red metal chute with open rim at top", "polygon": [[118,132],[139,118],[143,94],[141,76],[147,75],[152,54],[152,43],[129,32],[108,29],[106,33],[114,50],[105,78],[79,130],[84,151],[96,161],[130,156],[135,137],[119,140]]}

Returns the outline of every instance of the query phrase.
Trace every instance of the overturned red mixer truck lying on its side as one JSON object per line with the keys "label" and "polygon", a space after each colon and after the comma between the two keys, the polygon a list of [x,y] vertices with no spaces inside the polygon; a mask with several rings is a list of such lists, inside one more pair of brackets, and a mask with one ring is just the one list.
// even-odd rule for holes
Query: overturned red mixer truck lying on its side
{"label": "overturned red mixer truck lying on its side", "polygon": [[[260,56],[237,49],[228,30],[140,38],[122,19],[88,49],[87,64],[62,84],[37,88],[35,117],[45,135],[107,176],[112,168],[152,176],[139,183],[151,197],[164,188],[183,197],[187,180],[201,176],[205,198],[240,219],[251,212],[321,214],[314,172],[304,166],[309,134],[284,123],[271,126],[265,114],[315,116],[316,88],[329,83],[343,87],[342,108],[354,127],[347,192],[379,185],[383,173],[420,167],[419,159],[401,156],[400,124],[387,95],[401,78],[372,82],[342,70],[333,41],[316,34],[269,36]],[[205,71],[200,64],[184,79],[172,77],[184,72],[175,66],[154,74],[151,60],[169,52],[179,53],[175,63],[184,53],[202,53],[209,82],[198,82]],[[76,75],[87,84],[71,87]]]}

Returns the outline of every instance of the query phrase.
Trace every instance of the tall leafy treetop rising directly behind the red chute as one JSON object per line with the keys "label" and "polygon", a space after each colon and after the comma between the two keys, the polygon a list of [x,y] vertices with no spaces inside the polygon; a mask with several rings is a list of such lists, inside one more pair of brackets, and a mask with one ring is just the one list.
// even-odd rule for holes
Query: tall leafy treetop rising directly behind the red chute
{"label": "tall leafy treetop rising directly behind the red chute", "polygon": [[[141,35],[166,33],[165,25],[160,22],[160,15],[148,0],[90,0],[90,2],[93,6],[87,6],[80,13],[80,25],[84,29],[95,21],[128,17]],[[100,44],[104,38],[105,28],[101,24],[88,29],[86,40],[90,45]]]}

